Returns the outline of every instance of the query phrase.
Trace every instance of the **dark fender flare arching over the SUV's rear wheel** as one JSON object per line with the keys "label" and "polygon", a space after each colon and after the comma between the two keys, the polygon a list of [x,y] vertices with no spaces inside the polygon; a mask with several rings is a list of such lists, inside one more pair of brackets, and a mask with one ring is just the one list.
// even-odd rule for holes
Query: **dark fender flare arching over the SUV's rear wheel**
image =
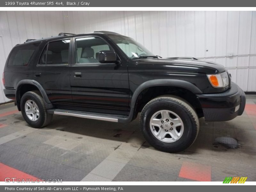
{"label": "dark fender flare arching over the SUV's rear wheel", "polygon": [[45,106],[47,109],[49,108],[53,108],[52,106],[52,103],[51,101],[49,100],[46,92],[44,91],[44,88],[42,87],[42,85],[40,85],[37,81],[35,80],[31,80],[31,79],[23,79],[21,80],[17,85],[16,85],[16,91],[15,91],[15,99],[16,99],[16,102],[17,102],[17,106],[18,106],[18,109],[20,110],[20,99],[19,98],[19,92],[20,92],[20,86],[23,85],[23,84],[31,84],[31,85],[34,85],[36,86],[36,88],[39,90],[39,92],[41,93],[42,97],[43,97],[43,100],[44,100],[44,103],[45,103]]}

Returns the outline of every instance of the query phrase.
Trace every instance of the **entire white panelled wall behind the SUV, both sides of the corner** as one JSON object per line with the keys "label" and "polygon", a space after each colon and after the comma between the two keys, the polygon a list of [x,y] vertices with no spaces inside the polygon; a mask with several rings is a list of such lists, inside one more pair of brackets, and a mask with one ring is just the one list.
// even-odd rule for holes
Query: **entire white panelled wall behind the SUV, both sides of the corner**
{"label": "entire white panelled wall behind the SUV, both sides of the corner", "polygon": [[[218,62],[244,91],[256,91],[256,12],[239,11],[1,11],[0,76],[12,47],[26,39],[95,30],[130,36],[162,57]],[[2,88],[1,81],[0,103],[8,101]]]}

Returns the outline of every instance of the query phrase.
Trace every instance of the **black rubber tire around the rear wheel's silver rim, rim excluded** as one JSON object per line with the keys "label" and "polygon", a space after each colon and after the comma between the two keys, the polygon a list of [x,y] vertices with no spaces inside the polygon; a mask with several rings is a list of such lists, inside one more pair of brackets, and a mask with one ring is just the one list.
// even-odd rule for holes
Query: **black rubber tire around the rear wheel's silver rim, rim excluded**
{"label": "black rubber tire around the rear wheel's silver rim, rim excluded", "polygon": [[[28,100],[34,101],[38,107],[40,116],[36,121],[30,120],[25,112],[25,103]],[[43,98],[36,92],[30,91],[30,92],[24,93],[24,95],[21,97],[21,100],[20,100],[20,109],[21,109],[23,118],[31,127],[42,128],[52,121],[53,115],[47,113]]]}

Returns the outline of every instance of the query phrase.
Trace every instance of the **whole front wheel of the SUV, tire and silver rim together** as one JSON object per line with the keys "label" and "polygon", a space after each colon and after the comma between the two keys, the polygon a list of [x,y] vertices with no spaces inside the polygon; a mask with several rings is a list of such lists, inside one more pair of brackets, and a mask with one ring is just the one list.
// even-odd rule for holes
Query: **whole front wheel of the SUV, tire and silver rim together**
{"label": "whole front wheel of the SUV, tire and silver rim together", "polygon": [[176,153],[194,143],[199,120],[195,110],[185,100],[163,96],[149,101],[142,109],[140,128],[153,147]]}

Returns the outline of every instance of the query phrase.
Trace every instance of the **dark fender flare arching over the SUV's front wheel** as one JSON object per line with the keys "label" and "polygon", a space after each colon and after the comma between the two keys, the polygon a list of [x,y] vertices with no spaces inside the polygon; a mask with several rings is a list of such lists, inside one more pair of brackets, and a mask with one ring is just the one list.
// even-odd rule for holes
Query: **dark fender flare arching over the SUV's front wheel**
{"label": "dark fender flare arching over the SUV's front wheel", "polygon": [[179,80],[179,79],[149,80],[149,81],[146,81],[146,82],[140,84],[140,86],[133,93],[132,99],[131,99],[131,104],[130,104],[131,108],[134,109],[137,98],[138,98],[139,94],[144,89],[147,89],[149,87],[155,87],[155,86],[175,86],[175,87],[180,87],[180,88],[187,89],[187,90],[191,91],[194,94],[202,94],[202,91],[198,87],[196,87],[196,85],[194,85],[194,84],[192,84],[188,81]]}

